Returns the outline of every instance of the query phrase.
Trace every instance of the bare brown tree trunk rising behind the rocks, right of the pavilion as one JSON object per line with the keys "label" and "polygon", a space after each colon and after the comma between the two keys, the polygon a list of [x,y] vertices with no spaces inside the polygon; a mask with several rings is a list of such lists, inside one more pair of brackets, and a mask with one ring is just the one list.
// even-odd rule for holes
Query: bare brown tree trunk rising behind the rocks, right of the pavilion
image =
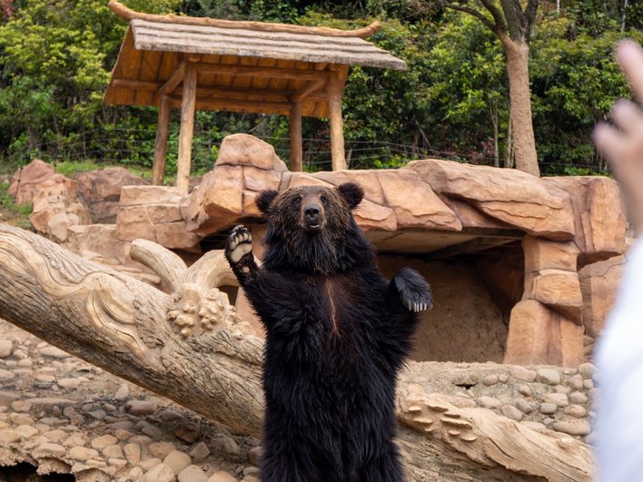
{"label": "bare brown tree trunk rising behind the rocks, right of the pavilion", "polygon": [[540,175],[529,93],[529,44],[502,36],[507,52],[509,75],[509,116],[513,127],[513,149],[516,169]]}

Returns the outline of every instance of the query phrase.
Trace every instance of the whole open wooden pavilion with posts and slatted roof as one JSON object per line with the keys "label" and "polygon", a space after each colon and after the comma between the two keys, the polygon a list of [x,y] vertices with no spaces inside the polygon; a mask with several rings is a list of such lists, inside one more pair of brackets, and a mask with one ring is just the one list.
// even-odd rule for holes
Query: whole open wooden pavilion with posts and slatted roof
{"label": "whole open wooden pavilion with posts and slatted roof", "polygon": [[176,185],[188,191],[195,109],[290,116],[291,169],[302,170],[302,116],[329,118],[333,171],[346,169],[341,93],[352,64],[405,69],[359,30],[152,15],[116,0],[130,22],[104,103],[159,108],[153,183],[163,182],[170,111],[181,109]]}

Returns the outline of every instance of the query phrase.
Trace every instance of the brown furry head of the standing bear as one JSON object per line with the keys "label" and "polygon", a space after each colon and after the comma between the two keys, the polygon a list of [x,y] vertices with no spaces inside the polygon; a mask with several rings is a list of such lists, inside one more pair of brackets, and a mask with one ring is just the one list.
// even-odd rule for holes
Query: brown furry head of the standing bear
{"label": "brown furry head of the standing bear", "polygon": [[352,217],[363,197],[355,182],[260,192],[255,202],[268,221],[264,265],[305,273],[346,270],[358,257],[353,251],[370,252]]}

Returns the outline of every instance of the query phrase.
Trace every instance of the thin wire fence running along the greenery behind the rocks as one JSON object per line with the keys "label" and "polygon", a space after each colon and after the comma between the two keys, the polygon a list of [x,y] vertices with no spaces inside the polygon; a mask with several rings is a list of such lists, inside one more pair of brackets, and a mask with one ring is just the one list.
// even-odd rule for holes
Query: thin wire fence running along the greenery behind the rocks
{"label": "thin wire fence running along the greenery behind the rocks", "polygon": [[[225,133],[196,131],[193,135],[192,173],[202,174],[213,169],[219,146]],[[12,152],[0,152],[0,171],[10,172],[33,159],[43,159],[54,165],[61,162],[92,162],[104,165],[135,166],[143,170],[152,166],[156,132],[153,129],[96,129],[66,136],[64,139],[39,140],[37,145],[14,147]],[[272,144],[275,152],[286,163],[290,158],[290,138],[257,136]],[[480,165],[494,165],[494,157],[486,152],[456,152],[430,147],[384,141],[345,141],[346,160],[350,169],[398,168],[417,159],[446,159]],[[302,140],[303,168],[306,172],[331,170],[331,143],[329,139]],[[175,172],[178,155],[178,129],[171,130],[167,145],[167,172]],[[501,164],[501,162],[500,162]],[[600,173],[607,168],[566,162],[540,162],[547,173]],[[570,172],[564,172],[567,169]],[[605,172],[603,172],[605,171]]]}

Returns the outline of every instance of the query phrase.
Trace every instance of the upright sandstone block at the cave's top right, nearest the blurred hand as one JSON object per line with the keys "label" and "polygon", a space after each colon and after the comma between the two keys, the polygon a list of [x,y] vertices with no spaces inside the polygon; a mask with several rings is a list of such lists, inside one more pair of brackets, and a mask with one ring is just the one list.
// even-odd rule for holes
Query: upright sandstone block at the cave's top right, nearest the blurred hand
{"label": "upright sandstone block at the cave's top right, nearest the blurred hand", "polygon": [[625,208],[617,182],[605,176],[549,177],[543,182],[569,192],[581,266],[625,251]]}

